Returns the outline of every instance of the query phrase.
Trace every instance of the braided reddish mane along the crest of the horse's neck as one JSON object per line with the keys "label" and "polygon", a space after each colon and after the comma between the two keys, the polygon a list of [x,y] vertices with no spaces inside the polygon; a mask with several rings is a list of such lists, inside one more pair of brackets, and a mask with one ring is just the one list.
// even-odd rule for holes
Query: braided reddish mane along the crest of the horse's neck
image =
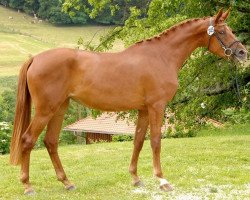
{"label": "braided reddish mane along the crest of the horse's neck", "polygon": [[140,44],[140,43],[142,43],[142,42],[144,42],[144,41],[151,41],[151,40],[153,40],[153,39],[160,39],[162,36],[167,36],[167,35],[169,35],[170,33],[174,32],[174,31],[175,31],[177,28],[179,28],[179,27],[183,27],[183,26],[185,26],[185,25],[187,25],[187,24],[190,24],[190,23],[192,23],[192,22],[196,22],[196,21],[199,21],[199,20],[206,20],[207,18],[209,18],[209,17],[193,18],[193,19],[184,20],[184,21],[182,21],[182,22],[180,22],[180,23],[177,23],[177,24],[171,26],[170,28],[166,29],[165,31],[163,31],[163,32],[160,33],[159,35],[156,35],[156,36],[153,36],[153,37],[151,37],[151,38],[148,38],[148,39],[144,39],[144,40],[138,41],[138,42],[136,42],[135,44]]}

